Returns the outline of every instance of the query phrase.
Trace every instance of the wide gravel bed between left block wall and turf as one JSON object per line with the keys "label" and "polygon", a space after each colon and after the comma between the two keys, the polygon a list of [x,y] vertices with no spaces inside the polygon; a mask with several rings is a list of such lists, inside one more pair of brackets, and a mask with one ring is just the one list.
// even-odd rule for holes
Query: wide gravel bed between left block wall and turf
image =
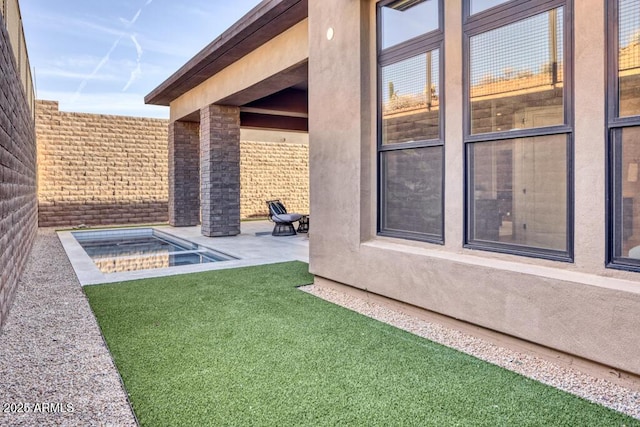
{"label": "wide gravel bed between left block wall and turf", "polygon": [[38,231],[0,332],[0,405],[2,426],[136,425],[95,317],[52,230]]}

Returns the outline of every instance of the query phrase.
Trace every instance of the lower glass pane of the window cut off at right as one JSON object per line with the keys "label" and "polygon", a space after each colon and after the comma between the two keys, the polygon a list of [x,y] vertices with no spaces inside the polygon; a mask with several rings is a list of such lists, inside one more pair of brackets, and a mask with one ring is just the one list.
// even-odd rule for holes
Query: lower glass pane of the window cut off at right
{"label": "lower glass pane of the window cut off at right", "polygon": [[[618,256],[640,259],[640,128],[622,129],[622,150],[618,182],[622,187],[622,203],[616,212],[618,218]],[[621,209],[620,209],[621,208]]]}

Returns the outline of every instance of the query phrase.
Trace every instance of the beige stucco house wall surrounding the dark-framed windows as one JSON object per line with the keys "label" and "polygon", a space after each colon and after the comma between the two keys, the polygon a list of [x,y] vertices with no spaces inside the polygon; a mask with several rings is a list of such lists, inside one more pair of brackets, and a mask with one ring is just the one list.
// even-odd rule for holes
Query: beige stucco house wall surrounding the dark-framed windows
{"label": "beige stucco house wall surrounding the dark-framed windows", "polygon": [[[572,263],[463,247],[461,2],[444,2],[445,243],[377,235],[375,8],[373,0],[309,2],[310,270],[317,283],[347,284],[640,374],[640,277],[605,268],[604,2],[573,2],[579,149]],[[340,103],[329,102],[326,87],[341,94]]]}

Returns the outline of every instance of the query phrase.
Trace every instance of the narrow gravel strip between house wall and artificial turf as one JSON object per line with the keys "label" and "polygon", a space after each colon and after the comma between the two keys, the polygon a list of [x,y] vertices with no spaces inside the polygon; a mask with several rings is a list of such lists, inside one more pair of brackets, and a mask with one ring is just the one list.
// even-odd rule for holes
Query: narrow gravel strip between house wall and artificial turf
{"label": "narrow gravel strip between house wall and artificial turf", "polygon": [[335,289],[315,285],[300,289],[365,316],[640,419],[640,392],[605,379],[595,378],[576,369],[554,364],[531,354],[497,346],[481,338],[427,322]]}

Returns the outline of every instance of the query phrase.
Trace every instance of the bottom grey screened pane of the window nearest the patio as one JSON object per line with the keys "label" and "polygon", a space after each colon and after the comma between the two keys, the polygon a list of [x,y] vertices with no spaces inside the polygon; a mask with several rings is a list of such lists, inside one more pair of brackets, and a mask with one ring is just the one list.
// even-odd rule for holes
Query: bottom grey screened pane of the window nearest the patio
{"label": "bottom grey screened pane of the window nearest the patio", "polygon": [[442,236],[443,148],[382,153],[382,230]]}

